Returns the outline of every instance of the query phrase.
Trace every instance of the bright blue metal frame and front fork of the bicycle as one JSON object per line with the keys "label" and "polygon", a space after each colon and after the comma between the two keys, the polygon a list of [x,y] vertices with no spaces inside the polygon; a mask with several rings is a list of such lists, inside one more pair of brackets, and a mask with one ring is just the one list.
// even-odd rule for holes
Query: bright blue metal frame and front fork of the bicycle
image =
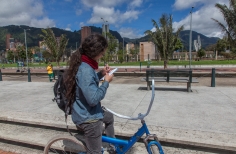
{"label": "bright blue metal frame and front fork of the bicycle", "polygon": [[[151,154],[151,145],[155,144],[160,154],[164,154],[163,149],[161,147],[161,144],[158,142],[157,137],[155,134],[150,134],[148,127],[144,120],[141,120],[142,127],[139,128],[139,130],[129,139],[129,140],[121,140],[117,138],[111,138],[107,136],[102,136],[102,141],[111,143],[115,146],[115,150],[117,154],[124,154],[126,153],[144,134],[146,134],[146,138],[144,138],[143,142],[145,143],[147,147],[147,151],[149,154]],[[148,139],[154,139],[153,141],[150,141],[148,143]],[[122,147],[122,148],[121,148]]]}

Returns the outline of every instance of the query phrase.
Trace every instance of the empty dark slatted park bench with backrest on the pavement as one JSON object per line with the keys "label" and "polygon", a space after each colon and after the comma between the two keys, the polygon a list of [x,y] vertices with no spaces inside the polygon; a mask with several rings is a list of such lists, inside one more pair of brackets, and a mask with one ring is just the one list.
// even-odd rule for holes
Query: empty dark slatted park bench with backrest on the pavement
{"label": "empty dark slatted park bench with backrest on the pavement", "polygon": [[151,81],[155,82],[180,82],[187,83],[187,92],[191,92],[191,83],[198,83],[192,78],[192,70],[146,70],[146,77],[141,81],[147,82],[147,90],[150,90]]}

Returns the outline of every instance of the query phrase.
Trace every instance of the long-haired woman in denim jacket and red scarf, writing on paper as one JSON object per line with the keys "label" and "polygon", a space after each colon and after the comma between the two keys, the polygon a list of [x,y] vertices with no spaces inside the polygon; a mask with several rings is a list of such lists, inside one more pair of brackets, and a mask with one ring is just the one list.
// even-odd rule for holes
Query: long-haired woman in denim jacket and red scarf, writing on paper
{"label": "long-haired woman in denim jacket and red scarf, writing on paper", "polygon": [[[69,98],[69,105],[72,106],[72,121],[83,129],[89,154],[101,153],[103,123],[106,135],[115,137],[113,115],[103,111],[100,102],[113,75],[109,75],[108,65],[98,73],[95,71],[98,69],[97,61],[105,55],[107,46],[102,35],[87,37],[71,56],[65,79],[66,98]],[[99,86],[103,76],[104,82]]]}

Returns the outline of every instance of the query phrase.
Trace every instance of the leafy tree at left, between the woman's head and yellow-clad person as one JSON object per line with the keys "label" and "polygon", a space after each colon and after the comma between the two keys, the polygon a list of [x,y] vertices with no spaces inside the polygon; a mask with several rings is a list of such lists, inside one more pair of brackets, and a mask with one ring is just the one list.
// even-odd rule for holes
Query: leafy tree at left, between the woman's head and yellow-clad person
{"label": "leafy tree at left, between the woman's head and yellow-clad person", "polygon": [[50,28],[42,29],[42,32],[43,35],[40,35],[40,37],[42,37],[44,40],[43,44],[48,47],[48,52],[57,62],[57,66],[59,66],[59,62],[64,54],[66,45],[68,43],[68,39],[63,34],[59,38],[56,38],[53,33],[53,30]]}

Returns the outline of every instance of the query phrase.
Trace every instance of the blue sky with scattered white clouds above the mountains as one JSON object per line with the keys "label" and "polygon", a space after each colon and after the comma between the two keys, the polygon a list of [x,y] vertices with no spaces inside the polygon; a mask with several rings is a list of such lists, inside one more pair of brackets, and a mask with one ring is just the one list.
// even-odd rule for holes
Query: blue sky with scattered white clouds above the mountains
{"label": "blue sky with scattered white clouds above the mountains", "polygon": [[[70,31],[82,26],[101,27],[104,21],[122,37],[139,38],[153,30],[151,19],[158,21],[163,13],[172,14],[174,27],[192,29],[210,37],[222,37],[215,18],[224,23],[216,3],[228,0],[0,0],[0,26],[28,25],[57,27]],[[102,20],[103,18],[104,20]]]}

